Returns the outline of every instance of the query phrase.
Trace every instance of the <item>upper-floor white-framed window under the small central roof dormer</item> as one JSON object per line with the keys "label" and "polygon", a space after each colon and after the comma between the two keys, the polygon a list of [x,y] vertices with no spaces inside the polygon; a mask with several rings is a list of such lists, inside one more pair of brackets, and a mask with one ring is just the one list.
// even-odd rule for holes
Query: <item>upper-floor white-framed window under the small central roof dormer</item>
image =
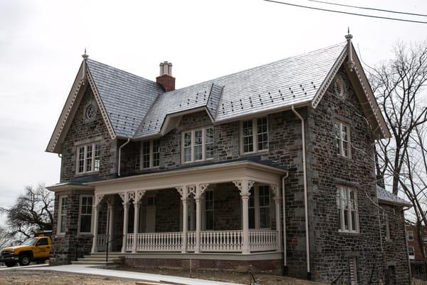
{"label": "upper-floor white-framed window under the small central roof dormer", "polygon": [[184,163],[214,158],[214,127],[182,132],[182,161]]}

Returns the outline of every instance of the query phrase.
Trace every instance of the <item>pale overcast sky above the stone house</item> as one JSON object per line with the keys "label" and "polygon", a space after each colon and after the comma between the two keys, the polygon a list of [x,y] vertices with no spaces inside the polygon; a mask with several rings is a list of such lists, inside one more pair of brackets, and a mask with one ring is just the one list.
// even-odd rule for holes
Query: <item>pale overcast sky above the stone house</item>
{"label": "pale overcast sky above the stone house", "polygon": [[[425,0],[357,4],[427,14]],[[90,58],[152,80],[159,62],[171,61],[180,88],[331,46],[344,41],[347,26],[371,65],[389,58],[396,41],[425,40],[427,31],[426,24],[262,0],[0,0],[0,206],[13,203],[26,185],[59,181],[60,159],[44,150],[85,47]]]}

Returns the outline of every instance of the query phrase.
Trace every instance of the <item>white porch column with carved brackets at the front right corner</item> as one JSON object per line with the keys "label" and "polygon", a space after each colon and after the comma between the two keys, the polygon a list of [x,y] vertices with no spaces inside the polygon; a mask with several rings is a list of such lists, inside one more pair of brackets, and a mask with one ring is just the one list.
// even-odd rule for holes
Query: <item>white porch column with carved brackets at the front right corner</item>
{"label": "white porch column with carved brackets at the front right corner", "polygon": [[242,244],[242,254],[251,253],[251,244],[249,244],[249,196],[251,193],[252,186],[255,184],[253,181],[248,180],[238,180],[233,181],[234,185],[238,187],[238,190],[241,192],[242,197],[242,234],[243,234],[243,244]]}

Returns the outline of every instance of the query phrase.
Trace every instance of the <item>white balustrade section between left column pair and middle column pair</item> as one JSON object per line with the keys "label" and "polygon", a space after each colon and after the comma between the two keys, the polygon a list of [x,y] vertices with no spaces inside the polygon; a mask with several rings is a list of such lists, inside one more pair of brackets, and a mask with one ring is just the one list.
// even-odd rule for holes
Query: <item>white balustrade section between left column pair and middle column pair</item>
{"label": "white balustrade section between left column pair and middle column pair", "polygon": [[181,252],[182,232],[137,234],[137,252]]}

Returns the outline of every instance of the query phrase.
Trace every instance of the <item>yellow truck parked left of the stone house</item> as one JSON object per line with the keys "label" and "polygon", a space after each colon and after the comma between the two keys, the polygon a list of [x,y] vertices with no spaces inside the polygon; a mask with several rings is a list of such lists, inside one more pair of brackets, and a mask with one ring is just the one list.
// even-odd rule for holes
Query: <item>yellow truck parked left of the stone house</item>
{"label": "yellow truck parked left of the stone house", "polygon": [[38,237],[31,237],[21,245],[15,247],[5,247],[0,252],[0,262],[6,266],[27,266],[31,261],[45,261],[51,254],[52,241],[50,237],[43,234]]}

